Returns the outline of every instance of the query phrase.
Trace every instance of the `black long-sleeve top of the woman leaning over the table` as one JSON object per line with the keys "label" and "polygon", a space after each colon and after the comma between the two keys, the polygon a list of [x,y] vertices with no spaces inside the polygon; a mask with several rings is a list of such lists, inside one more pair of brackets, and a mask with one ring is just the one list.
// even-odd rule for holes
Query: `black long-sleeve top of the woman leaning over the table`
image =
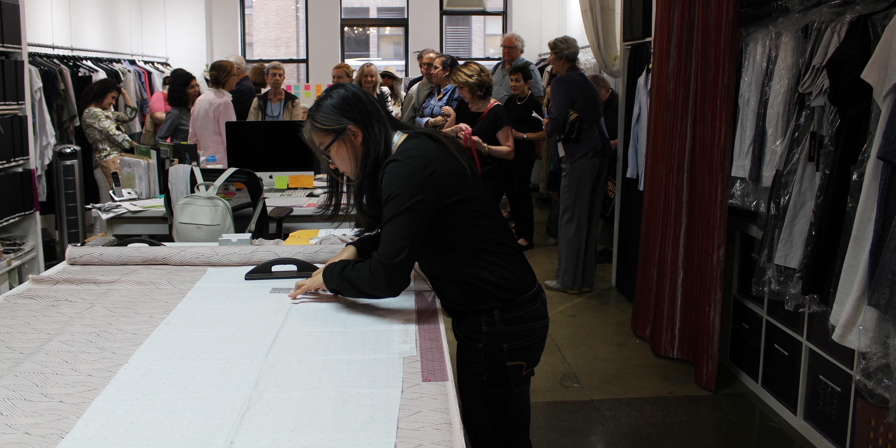
{"label": "black long-sleeve top of the woman leaning over the table", "polygon": [[441,142],[410,134],[380,175],[383,225],[352,243],[358,259],[323,270],[323,283],[345,297],[395,297],[414,263],[449,314],[513,303],[537,284],[494,198]]}

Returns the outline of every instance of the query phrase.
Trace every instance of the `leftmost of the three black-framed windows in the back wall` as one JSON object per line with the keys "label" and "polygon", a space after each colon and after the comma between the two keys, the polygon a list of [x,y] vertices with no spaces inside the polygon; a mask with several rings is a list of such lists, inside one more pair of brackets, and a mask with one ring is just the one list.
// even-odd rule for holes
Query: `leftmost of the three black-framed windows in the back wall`
{"label": "leftmost of the three black-framed windows in the back wall", "polygon": [[280,61],[288,83],[306,83],[307,0],[240,0],[246,67]]}

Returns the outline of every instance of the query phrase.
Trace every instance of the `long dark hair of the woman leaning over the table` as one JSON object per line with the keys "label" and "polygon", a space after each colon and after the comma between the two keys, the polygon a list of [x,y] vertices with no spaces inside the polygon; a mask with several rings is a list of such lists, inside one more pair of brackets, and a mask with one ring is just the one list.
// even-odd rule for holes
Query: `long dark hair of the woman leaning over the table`
{"label": "long dark hair of the woman leaning over the table", "polygon": [[[305,141],[314,154],[323,160],[313,133],[339,135],[344,138],[349,125],[361,130],[361,156],[358,160],[358,178],[349,179],[339,171],[330,169],[323,215],[334,220],[344,211],[354,208],[356,226],[360,235],[373,233],[383,224],[383,194],[380,190],[380,174],[383,164],[392,155],[392,136],[395,131],[424,135],[432,140],[433,151],[451,151],[469,176],[474,176],[472,158],[467,151],[448,134],[429,129],[410,127],[388,114],[379,101],[353,83],[333,84],[323,91],[308,110],[305,120]],[[326,165],[326,161],[323,161]],[[342,185],[348,187],[348,200],[342,201]]]}

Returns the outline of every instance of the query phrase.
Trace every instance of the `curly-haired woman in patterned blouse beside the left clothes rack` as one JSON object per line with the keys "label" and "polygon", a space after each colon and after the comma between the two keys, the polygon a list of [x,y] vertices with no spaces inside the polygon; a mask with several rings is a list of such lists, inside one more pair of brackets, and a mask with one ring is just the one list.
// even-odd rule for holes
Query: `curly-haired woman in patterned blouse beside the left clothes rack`
{"label": "curly-haired woman in patterned blouse beside the left clothes rack", "polygon": [[[112,105],[118,96],[125,99],[125,111],[115,112]],[[93,176],[99,186],[99,202],[112,200],[112,172],[118,170],[118,157],[134,146],[131,138],[118,126],[137,116],[134,102],[117,82],[103,79],[94,82],[82,93],[81,125],[84,136],[93,148]]]}

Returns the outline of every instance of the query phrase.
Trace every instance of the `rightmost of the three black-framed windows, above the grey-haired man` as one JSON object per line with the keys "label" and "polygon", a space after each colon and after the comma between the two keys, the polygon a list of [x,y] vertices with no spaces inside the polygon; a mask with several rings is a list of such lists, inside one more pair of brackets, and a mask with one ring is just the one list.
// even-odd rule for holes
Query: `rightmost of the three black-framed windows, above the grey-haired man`
{"label": "rightmost of the three black-framed windows, above the grey-haired man", "polygon": [[[501,59],[504,0],[448,1],[442,5],[442,47],[459,60]],[[480,5],[478,9],[461,9]]]}

